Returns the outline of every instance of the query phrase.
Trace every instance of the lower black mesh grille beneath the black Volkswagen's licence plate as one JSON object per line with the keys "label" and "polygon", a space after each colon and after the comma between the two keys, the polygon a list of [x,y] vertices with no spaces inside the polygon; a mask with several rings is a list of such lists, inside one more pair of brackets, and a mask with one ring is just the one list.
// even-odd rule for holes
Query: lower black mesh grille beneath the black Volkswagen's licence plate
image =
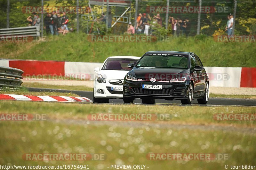
{"label": "lower black mesh grille beneath the black Volkswagen's licence plate", "polygon": [[133,87],[133,92],[135,94],[147,94],[147,95],[170,95],[173,89],[142,89],[139,87]]}

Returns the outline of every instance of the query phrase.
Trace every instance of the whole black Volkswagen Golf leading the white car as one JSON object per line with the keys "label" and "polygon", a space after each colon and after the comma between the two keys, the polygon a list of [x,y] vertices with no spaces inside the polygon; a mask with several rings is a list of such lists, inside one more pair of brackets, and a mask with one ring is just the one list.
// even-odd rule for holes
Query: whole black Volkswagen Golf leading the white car
{"label": "whole black Volkswagen Golf leading the white car", "polygon": [[190,104],[193,99],[206,104],[209,99],[209,78],[199,57],[178,51],[149,51],[124,78],[123,100],[154,104],[155,99],[180,100]]}

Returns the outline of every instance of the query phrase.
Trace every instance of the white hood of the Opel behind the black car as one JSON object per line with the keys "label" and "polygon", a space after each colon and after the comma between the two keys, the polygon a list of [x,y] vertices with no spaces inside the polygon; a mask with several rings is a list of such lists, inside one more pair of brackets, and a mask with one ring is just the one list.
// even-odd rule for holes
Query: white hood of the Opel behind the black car
{"label": "white hood of the Opel behind the black car", "polygon": [[128,72],[126,70],[100,70],[99,74],[105,79],[124,80]]}

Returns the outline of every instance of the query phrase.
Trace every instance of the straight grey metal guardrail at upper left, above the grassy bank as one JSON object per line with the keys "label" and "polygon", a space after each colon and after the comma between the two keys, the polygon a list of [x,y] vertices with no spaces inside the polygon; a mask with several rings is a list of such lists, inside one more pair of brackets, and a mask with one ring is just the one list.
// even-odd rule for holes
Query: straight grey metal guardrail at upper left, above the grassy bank
{"label": "straight grey metal guardrail at upper left, above the grassy bank", "polygon": [[40,36],[40,28],[37,26],[24,26],[16,28],[0,29],[0,36]]}

